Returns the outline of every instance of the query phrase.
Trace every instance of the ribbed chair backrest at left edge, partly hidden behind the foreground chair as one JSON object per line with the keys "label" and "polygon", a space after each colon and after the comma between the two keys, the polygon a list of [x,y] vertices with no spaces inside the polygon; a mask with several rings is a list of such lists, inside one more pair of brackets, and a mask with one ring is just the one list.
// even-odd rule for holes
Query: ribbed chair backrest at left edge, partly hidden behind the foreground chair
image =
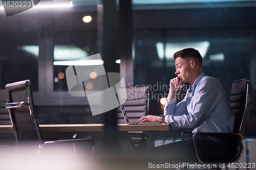
{"label": "ribbed chair backrest at left edge, partly hidden behind the foreground chair", "polygon": [[12,125],[9,111],[5,108],[8,99],[7,90],[0,90],[0,125]]}

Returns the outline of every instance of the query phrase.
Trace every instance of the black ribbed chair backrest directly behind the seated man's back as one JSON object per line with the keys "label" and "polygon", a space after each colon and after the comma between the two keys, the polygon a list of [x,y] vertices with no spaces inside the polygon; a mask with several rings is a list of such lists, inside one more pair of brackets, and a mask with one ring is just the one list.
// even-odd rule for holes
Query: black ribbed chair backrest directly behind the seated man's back
{"label": "black ribbed chair backrest directly behind the seated man's back", "polygon": [[230,107],[235,116],[234,133],[240,134],[241,131],[243,118],[249,99],[248,85],[250,82],[251,80],[247,78],[236,80],[232,84]]}

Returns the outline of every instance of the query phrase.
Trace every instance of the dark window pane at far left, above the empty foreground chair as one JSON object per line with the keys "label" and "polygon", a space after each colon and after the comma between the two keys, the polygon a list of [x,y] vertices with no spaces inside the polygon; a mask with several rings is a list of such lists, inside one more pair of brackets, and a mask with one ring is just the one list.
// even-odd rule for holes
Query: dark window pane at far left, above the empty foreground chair
{"label": "dark window pane at far left, above the empty foreground chair", "polygon": [[37,14],[4,16],[0,17],[0,23],[0,88],[29,79],[33,91],[38,91]]}

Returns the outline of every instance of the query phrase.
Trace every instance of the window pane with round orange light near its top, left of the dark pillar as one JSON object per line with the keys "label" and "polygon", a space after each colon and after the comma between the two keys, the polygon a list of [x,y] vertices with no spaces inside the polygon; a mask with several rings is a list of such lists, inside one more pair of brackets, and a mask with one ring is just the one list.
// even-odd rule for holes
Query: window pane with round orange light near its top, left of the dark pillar
{"label": "window pane with round orange light near its top, left of the dark pillar", "polygon": [[[54,91],[68,91],[65,75],[66,68],[72,62],[97,54],[97,12],[77,12],[72,13],[72,17],[68,15],[54,14]],[[84,22],[84,16],[91,16],[92,20]]]}

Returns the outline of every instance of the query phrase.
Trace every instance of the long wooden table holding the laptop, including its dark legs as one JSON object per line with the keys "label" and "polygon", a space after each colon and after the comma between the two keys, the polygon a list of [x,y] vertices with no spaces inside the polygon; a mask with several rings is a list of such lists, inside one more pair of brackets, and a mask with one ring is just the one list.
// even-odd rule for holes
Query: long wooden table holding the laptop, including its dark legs
{"label": "long wooden table holding the laptop, including its dark legs", "polygon": [[[39,125],[41,132],[92,132],[92,139],[97,144],[98,150],[102,151],[104,145],[103,130],[104,124],[66,124],[66,125]],[[155,124],[155,125],[127,125],[118,124],[118,137],[122,153],[135,154],[137,149],[133,143],[128,131],[167,131],[169,126],[167,124]],[[0,125],[1,132],[13,132],[12,125]],[[103,146],[103,147],[102,147]]]}

